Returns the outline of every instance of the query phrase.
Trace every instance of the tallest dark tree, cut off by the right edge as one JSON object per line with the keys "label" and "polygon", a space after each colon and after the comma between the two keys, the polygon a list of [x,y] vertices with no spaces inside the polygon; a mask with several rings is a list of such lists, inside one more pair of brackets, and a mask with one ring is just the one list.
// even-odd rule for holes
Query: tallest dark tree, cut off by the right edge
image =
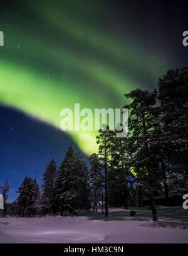
{"label": "tallest dark tree, cut off by the right edge", "polygon": [[169,70],[159,80],[163,155],[170,171],[170,189],[188,187],[188,67]]}

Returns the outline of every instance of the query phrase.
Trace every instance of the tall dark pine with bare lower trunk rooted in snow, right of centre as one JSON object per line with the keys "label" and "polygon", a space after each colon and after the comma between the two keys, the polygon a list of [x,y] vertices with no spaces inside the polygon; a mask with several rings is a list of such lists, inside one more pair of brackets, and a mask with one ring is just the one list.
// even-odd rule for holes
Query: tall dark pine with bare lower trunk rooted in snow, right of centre
{"label": "tall dark pine with bare lower trunk rooted in snow, right of centre", "polygon": [[136,89],[125,94],[125,97],[132,100],[130,104],[125,105],[125,108],[130,110],[128,119],[131,131],[129,147],[132,151],[130,164],[137,166],[142,173],[139,174],[139,178],[142,178],[142,183],[149,193],[153,220],[156,221],[158,217],[154,191],[159,183],[158,159],[150,151],[150,138],[157,125],[158,112],[155,109],[157,91],[151,93]]}

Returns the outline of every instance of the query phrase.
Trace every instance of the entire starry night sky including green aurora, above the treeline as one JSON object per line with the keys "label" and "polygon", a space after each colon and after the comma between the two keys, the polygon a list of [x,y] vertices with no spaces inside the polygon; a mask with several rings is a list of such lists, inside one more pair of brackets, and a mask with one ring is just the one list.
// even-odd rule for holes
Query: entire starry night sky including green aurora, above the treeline
{"label": "entire starry night sky including green aurora, above the treeline", "polygon": [[187,1],[1,1],[0,186],[9,201],[24,176],[60,165],[71,144],[97,151],[95,131],[60,130],[60,111],[121,108],[135,88],[153,90],[159,77],[187,65]]}

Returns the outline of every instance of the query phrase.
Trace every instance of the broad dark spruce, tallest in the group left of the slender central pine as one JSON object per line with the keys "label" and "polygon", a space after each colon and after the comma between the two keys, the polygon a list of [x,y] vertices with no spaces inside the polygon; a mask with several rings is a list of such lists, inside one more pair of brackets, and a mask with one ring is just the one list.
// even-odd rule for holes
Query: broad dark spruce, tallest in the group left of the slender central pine
{"label": "broad dark spruce, tallest in the group left of the slender central pine", "polygon": [[[80,154],[68,148],[55,181],[55,204],[63,215],[63,205],[73,208],[89,207],[88,172]],[[58,210],[58,209],[57,209]]]}

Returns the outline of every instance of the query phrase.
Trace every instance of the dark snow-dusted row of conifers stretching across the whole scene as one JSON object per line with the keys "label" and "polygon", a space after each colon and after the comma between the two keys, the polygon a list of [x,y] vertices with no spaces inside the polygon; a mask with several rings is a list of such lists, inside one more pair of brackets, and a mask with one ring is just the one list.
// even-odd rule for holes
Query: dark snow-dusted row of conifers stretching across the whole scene
{"label": "dark snow-dusted row of conifers stretching across the whole scene", "polygon": [[36,179],[24,178],[13,203],[6,203],[9,185],[1,187],[4,215],[63,215],[63,205],[97,211],[108,206],[141,206],[150,199],[153,220],[158,219],[155,196],[184,195],[188,191],[188,67],[169,70],[159,79],[158,90],[136,89],[125,94],[128,136],[100,130],[98,154],[83,157],[68,148],[61,166],[48,164],[40,191]]}

